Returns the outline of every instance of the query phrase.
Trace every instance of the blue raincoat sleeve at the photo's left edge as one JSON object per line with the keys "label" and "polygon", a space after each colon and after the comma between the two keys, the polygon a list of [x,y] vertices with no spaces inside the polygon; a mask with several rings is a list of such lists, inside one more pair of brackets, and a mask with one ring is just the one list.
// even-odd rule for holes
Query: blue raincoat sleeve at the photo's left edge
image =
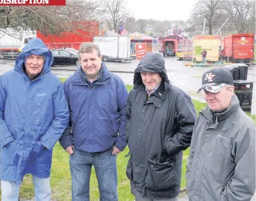
{"label": "blue raincoat sleeve at the photo's left edge", "polygon": [[6,102],[7,92],[2,79],[0,77],[0,146],[3,148],[4,145],[14,140],[11,135],[4,119],[4,110]]}

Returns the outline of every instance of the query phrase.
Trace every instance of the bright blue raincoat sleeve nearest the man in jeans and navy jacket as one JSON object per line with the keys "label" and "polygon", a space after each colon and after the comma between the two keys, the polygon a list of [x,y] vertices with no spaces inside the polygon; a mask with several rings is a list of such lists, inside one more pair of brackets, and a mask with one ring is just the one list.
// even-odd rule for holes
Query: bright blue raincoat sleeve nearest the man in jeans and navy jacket
{"label": "bright blue raincoat sleeve nearest the man in jeans and navy jacket", "polygon": [[54,118],[45,135],[39,140],[47,149],[53,148],[69,122],[69,108],[62,84],[53,97]]}

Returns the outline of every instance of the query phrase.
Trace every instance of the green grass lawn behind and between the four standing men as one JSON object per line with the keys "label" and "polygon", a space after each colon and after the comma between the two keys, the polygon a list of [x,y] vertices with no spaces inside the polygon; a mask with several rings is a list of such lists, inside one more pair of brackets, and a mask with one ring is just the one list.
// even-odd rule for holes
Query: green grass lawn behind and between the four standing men
{"label": "green grass lawn behind and between the four standing men", "polygon": [[[61,81],[65,81],[66,78],[60,78]],[[133,86],[126,85],[130,91]],[[193,100],[197,113],[206,106],[206,103]],[[249,114],[248,114],[249,115]],[[254,119],[255,116],[249,115]],[[129,158],[124,157],[129,150],[125,148],[123,152],[118,155],[118,193],[120,201],[134,200],[134,196],[130,193],[130,181],[126,177],[126,165]],[[187,165],[187,157],[189,155],[189,149],[183,153],[183,167],[182,167],[182,184],[181,187],[186,186],[185,172]],[[53,199],[58,201],[71,200],[71,176],[69,170],[69,155],[64,151],[59,142],[54,146],[53,152],[53,164],[52,173],[50,175],[50,185],[53,192]],[[1,191],[0,191],[1,192]],[[90,182],[90,196],[92,201],[99,200],[98,184],[94,169],[92,170],[91,182]],[[34,197],[33,183],[31,175],[26,175],[20,188],[20,197],[30,199]]]}

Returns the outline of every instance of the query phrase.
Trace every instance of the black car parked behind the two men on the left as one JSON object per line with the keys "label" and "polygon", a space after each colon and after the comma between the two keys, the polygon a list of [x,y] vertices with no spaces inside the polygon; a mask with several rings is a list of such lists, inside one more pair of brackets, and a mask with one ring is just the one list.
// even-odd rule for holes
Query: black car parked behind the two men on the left
{"label": "black car parked behind the two men on the left", "polygon": [[78,53],[68,49],[51,50],[54,56],[53,65],[80,65]]}

